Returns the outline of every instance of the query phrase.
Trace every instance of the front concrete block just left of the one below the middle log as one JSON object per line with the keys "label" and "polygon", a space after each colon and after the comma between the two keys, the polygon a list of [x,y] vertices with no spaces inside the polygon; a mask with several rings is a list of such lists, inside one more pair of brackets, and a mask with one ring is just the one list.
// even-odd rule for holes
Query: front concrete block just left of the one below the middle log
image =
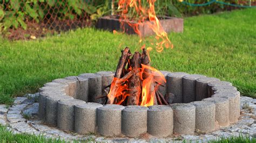
{"label": "front concrete block just left of the one below the middle log", "polygon": [[104,136],[117,136],[122,133],[122,110],[125,107],[107,104],[97,109],[98,133]]}

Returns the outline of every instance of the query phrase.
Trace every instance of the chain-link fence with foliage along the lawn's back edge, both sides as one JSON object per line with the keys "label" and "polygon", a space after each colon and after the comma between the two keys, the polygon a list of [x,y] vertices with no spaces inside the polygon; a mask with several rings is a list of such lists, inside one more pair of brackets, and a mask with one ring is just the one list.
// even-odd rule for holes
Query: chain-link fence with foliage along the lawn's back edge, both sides
{"label": "chain-link fence with foliage along the lawn's back edge, both sides", "polygon": [[[146,1],[146,0],[140,0]],[[184,3],[191,4],[184,4]],[[185,16],[238,9],[223,4],[200,5],[210,0],[157,1],[157,15]],[[256,5],[256,0],[219,0],[231,5]],[[11,39],[35,39],[46,34],[92,25],[103,15],[117,9],[118,0],[0,0],[0,36]],[[112,13],[113,14],[113,13]],[[118,13],[115,13],[118,14]],[[181,16],[181,15],[180,15]]]}

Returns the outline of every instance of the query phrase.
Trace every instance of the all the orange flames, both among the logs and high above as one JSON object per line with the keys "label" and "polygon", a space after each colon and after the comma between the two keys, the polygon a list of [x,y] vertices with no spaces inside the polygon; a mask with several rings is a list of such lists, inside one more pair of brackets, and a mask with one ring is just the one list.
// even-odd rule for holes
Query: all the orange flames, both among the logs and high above
{"label": "all the orange flames, both among the logs and high above", "polygon": [[[139,43],[143,44],[142,49],[147,47],[147,55],[149,56],[149,52],[152,51],[152,47],[156,47],[157,52],[161,52],[164,48],[173,48],[171,41],[169,40],[167,33],[164,31],[164,28],[161,26],[159,19],[156,16],[156,12],[154,10],[154,3],[156,0],[147,0],[147,6],[142,4],[142,0],[119,0],[118,2],[118,10],[120,10],[120,19],[119,22],[121,27],[123,28],[123,32],[125,32],[129,26],[133,28],[134,32],[136,32],[139,37]],[[147,8],[146,8],[147,7]],[[136,11],[136,17],[129,17],[132,10]],[[143,41],[145,38],[142,37],[142,31],[139,31],[140,28],[144,25],[149,26],[154,33],[156,33],[156,43],[149,42],[150,46],[146,46]],[[128,27],[127,27],[128,26]],[[113,31],[114,34],[117,34],[117,31]],[[146,42],[147,43],[147,42]],[[149,56],[150,60],[150,56]],[[127,72],[132,71],[132,68],[127,69]],[[150,73],[148,73],[150,71]],[[133,72],[134,73],[134,72]],[[156,90],[158,89],[159,84],[164,84],[166,82],[163,74],[160,73],[157,69],[147,66],[140,65],[139,68],[139,78],[142,81],[142,89],[138,87],[137,92],[139,94],[138,97],[140,101],[138,101],[138,105],[142,106],[151,106],[156,103]],[[143,75],[147,75],[146,77]],[[127,74],[126,74],[127,75]],[[131,77],[131,76],[130,76]],[[109,99],[109,104],[125,104],[126,98],[130,96],[129,83],[130,77],[122,77],[116,78],[114,77],[110,92],[107,95]],[[159,83],[159,84],[152,84]],[[154,87],[152,87],[154,86]]]}

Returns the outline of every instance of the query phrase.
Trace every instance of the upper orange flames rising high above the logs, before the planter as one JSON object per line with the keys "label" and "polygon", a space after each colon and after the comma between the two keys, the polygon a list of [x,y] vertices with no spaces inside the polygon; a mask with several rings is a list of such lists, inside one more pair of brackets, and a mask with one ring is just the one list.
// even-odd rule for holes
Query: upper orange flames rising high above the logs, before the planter
{"label": "upper orange flames rising high above the logs, before the planter", "polygon": [[[154,10],[155,2],[156,0],[147,0],[148,8],[145,8],[145,5],[142,4],[141,0],[119,0],[118,10],[121,11],[119,21],[124,31],[125,24],[128,24],[133,28],[134,32],[140,37],[139,42],[145,40],[142,37],[141,31],[139,31],[139,26],[144,26],[147,24],[152,31],[156,33],[156,50],[157,52],[161,52],[163,51],[164,47],[173,48],[173,45],[171,44],[167,33],[164,31],[164,28],[161,26],[159,19],[156,16],[156,12]],[[135,10],[138,17],[136,17],[136,19],[133,19],[134,17],[129,17],[129,10]],[[137,22],[134,22],[134,20],[137,20]]]}

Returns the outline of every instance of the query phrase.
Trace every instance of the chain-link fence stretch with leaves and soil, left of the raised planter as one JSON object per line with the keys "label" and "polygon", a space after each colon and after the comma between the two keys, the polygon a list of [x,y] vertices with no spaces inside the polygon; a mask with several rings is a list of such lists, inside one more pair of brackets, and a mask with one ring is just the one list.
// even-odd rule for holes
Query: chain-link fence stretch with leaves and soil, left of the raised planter
{"label": "chain-link fence stretch with leaves and soil, left of the raised planter", "polygon": [[21,34],[16,39],[24,39],[89,26],[96,5],[93,0],[0,0],[0,24],[4,24],[0,31],[7,30],[9,38]]}

